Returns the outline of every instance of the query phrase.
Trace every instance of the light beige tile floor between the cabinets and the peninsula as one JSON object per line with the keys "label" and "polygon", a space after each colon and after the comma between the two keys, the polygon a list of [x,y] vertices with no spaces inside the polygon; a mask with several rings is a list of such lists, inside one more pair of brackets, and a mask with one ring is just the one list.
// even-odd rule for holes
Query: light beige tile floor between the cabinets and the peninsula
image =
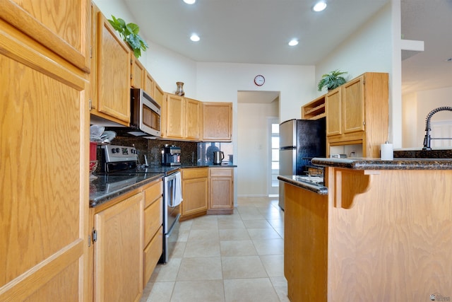
{"label": "light beige tile floor between the cabinets and the peninsula", "polygon": [[286,302],[284,212],[278,197],[239,197],[232,215],[182,221],[172,259],[141,302]]}

